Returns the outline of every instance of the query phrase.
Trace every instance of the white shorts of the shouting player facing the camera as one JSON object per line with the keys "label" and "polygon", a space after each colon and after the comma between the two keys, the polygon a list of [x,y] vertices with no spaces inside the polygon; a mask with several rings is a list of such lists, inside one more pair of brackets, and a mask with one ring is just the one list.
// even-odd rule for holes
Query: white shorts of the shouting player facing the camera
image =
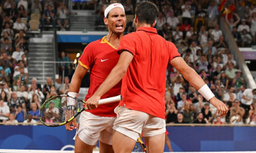
{"label": "white shorts of the shouting player facing the camera", "polygon": [[75,136],[91,146],[98,140],[104,144],[112,145],[113,123],[116,117],[101,117],[83,111],[79,118],[79,125]]}

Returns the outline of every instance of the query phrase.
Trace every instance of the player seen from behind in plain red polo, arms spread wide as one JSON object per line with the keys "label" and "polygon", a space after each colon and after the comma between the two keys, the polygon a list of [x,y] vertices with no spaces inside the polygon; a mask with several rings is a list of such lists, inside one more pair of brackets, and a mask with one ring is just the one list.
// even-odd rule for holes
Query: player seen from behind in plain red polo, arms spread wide
{"label": "player seen from behind in plain red polo, arms spread wide", "polygon": [[228,112],[226,105],[214,97],[197,72],[181,58],[176,46],[157,34],[153,28],[157,15],[154,3],[147,1],[137,5],[134,19],[137,31],[123,36],[117,65],[86,103],[91,109],[98,107],[100,97],[123,79],[123,101],[115,109],[117,119],[113,126],[113,149],[118,153],[131,152],[141,132],[148,152],[164,152],[164,91],[168,64],[177,68],[217,107],[220,115]]}

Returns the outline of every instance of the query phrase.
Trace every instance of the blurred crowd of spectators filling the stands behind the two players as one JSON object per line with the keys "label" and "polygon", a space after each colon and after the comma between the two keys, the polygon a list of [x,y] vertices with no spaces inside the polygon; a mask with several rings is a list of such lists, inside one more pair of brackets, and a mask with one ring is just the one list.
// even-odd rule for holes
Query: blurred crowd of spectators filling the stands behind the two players
{"label": "blurred crowd of spectators filling the stands behind the two players", "polygon": [[[132,19],[135,5],[141,1],[143,0],[122,1],[127,15],[125,34],[133,32]],[[46,23],[56,28],[56,23],[67,23],[65,20],[69,13],[67,7],[64,3],[53,0],[43,1],[43,3],[38,0],[32,3],[27,2],[27,4],[25,2],[27,1],[7,0],[5,1],[9,4],[7,8],[5,3],[2,4],[0,121],[5,123],[38,121],[38,108],[42,102],[55,95],[67,93],[69,88],[69,77],[65,77],[63,84],[52,81],[51,78],[47,79],[45,85],[38,85],[35,78],[32,79],[31,84],[28,83],[26,32],[29,27],[25,24],[22,30],[15,28],[15,23],[19,23],[24,18],[29,21],[31,13],[42,15],[43,29]],[[255,124],[255,101],[249,105],[242,103],[243,95],[255,94],[255,91],[247,89],[243,72],[238,69],[218,25],[218,19],[224,17],[238,46],[246,47],[255,44],[255,1],[155,0],[153,2],[160,9],[156,19],[158,34],[177,46],[185,62],[198,72],[214,95],[224,101],[230,109],[226,116],[220,117],[212,104],[205,101],[182,74],[169,65],[166,69],[166,123]],[[92,1],[90,5],[91,3]],[[102,21],[102,6],[106,3],[108,2],[104,0],[96,2],[98,23]],[[21,10],[26,13],[21,13],[23,11],[20,11],[20,6],[23,6]],[[17,15],[13,16],[10,13],[12,8]],[[9,13],[6,10],[9,10]],[[55,10],[64,13],[65,17],[57,18]],[[59,25],[59,30],[65,30],[65,26]],[[250,37],[250,41],[247,40]],[[24,44],[27,49],[20,47]],[[19,58],[16,58],[18,55]],[[59,61],[66,60],[69,59],[65,57],[65,52],[61,52]],[[69,66],[65,65],[61,68],[65,76],[68,76],[66,73],[69,73],[67,72],[70,70]],[[6,113],[7,109],[9,113]]]}

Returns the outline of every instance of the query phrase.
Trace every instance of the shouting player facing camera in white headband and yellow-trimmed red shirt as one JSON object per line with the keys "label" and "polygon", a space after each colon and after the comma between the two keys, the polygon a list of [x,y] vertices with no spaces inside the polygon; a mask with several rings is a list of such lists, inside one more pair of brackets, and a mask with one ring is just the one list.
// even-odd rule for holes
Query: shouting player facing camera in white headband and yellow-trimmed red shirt
{"label": "shouting player facing camera in white headband and yellow-trimmed red shirt", "polygon": [[[78,97],[82,79],[90,69],[90,88],[85,98],[87,100],[117,64],[119,60],[117,48],[126,25],[125,10],[121,3],[111,1],[110,5],[104,7],[104,23],[108,28],[108,35],[86,46],[71,79],[68,95]],[[120,95],[120,93],[121,81],[102,95],[102,99],[114,97]],[[75,119],[72,123],[66,124],[67,130],[77,128],[75,152],[91,153],[98,140],[100,142],[100,152],[113,152],[113,123],[117,116],[114,109],[118,104],[109,103],[100,105],[94,110],[84,111],[80,115],[79,125],[76,124]]]}

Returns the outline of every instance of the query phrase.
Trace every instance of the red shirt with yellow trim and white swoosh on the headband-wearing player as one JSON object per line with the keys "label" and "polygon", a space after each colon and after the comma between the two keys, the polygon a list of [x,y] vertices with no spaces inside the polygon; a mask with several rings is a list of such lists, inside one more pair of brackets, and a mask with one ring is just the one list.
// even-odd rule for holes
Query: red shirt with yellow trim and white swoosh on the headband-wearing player
{"label": "red shirt with yellow trim and white swoosh on the headband-wearing player", "polygon": [[[117,49],[105,37],[86,46],[82,56],[79,58],[79,64],[84,66],[84,68],[90,69],[90,87],[85,101],[92,97],[98,87],[108,77],[108,74],[117,64],[118,60],[119,54],[117,54]],[[120,93],[121,81],[100,98],[114,97],[120,95]],[[108,103],[99,105],[96,109],[86,111],[102,117],[116,117],[114,109],[118,104],[119,102]]]}

